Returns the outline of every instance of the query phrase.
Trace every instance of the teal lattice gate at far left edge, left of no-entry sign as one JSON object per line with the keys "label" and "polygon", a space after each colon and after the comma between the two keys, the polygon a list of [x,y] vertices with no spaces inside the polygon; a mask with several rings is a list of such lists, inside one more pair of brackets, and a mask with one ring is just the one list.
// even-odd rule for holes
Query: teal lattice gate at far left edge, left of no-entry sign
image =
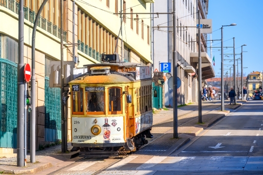
{"label": "teal lattice gate at far left edge, left of no-entry sign", "polygon": [[0,58],[0,147],[17,148],[18,65]]}

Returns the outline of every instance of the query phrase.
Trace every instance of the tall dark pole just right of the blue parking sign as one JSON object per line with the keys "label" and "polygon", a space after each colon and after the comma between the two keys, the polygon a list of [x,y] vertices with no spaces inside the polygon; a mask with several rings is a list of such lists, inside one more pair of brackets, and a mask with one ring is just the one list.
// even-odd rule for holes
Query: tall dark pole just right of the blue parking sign
{"label": "tall dark pole just right of the blue parking sign", "polygon": [[178,138],[178,114],[177,114],[177,53],[176,53],[176,13],[175,0],[173,1],[173,138]]}

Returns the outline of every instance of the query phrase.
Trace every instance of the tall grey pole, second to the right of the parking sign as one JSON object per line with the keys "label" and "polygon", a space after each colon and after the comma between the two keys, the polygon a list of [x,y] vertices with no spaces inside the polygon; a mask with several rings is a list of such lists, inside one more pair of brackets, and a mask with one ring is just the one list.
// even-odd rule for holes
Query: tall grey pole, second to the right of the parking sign
{"label": "tall grey pole, second to the right of the parking sign", "polygon": [[202,123],[202,58],[200,18],[200,10],[198,10],[198,123]]}

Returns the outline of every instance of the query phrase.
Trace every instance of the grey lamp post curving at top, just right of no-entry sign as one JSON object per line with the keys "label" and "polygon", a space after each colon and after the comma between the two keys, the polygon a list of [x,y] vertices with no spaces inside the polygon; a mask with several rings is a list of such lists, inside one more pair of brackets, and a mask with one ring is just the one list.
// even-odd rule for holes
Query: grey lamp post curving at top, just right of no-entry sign
{"label": "grey lamp post curving at top, just right of no-entry sign", "polygon": [[[36,76],[35,76],[35,51],[36,51],[36,31],[38,26],[38,18],[48,0],[44,0],[38,9],[38,13],[34,22],[32,32],[32,76],[31,76],[31,119],[30,119],[30,162],[36,162]],[[22,2],[22,1],[21,1]],[[21,9],[21,8],[20,8]]]}

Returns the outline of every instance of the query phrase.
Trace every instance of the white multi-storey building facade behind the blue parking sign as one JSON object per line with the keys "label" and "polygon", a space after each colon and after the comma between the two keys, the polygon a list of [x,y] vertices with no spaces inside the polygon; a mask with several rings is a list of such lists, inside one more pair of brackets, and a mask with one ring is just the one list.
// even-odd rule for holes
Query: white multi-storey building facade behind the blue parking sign
{"label": "white multi-storey building facade behind the blue parking sign", "polygon": [[[177,89],[178,104],[188,104],[198,101],[198,82],[197,82],[197,63],[198,63],[198,35],[196,20],[198,19],[198,10],[201,11],[201,18],[207,18],[208,0],[177,0],[176,1],[176,50],[177,50],[177,74],[181,79],[181,87]],[[172,0],[155,0],[152,4],[153,13],[171,13],[173,11]],[[159,15],[159,18],[152,16],[152,26],[168,26],[167,28],[152,29],[152,60],[154,70],[160,71],[160,63],[171,63],[173,52],[173,33],[172,33],[172,15]],[[191,26],[188,27],[187,26]],[[202,80],[215,76],[211,66],[211,59],[207,55],[207,34],[201,34],[201,57],[202,57]],[[171,66],[173,67],[173,66]],[[171,74],[172,74],[171,69]],[[165,73],[166,74],[166,73]],[[199,75],[198,75],[199,76]],[[204,84],[202,82],[202,84]],[[164,105],[173,106],[172,89],[168,87],[168,81],[165,82]]]}

